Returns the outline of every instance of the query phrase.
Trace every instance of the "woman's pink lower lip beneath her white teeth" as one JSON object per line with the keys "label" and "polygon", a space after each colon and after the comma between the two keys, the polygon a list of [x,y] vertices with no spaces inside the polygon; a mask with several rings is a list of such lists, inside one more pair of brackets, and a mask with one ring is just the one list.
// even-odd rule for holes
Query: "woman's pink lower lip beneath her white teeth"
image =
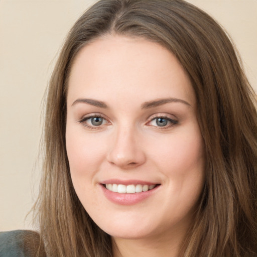
{"label": "woman's pink lower lip beneath her white teeth", "polygon": [[112,192],[106,189],[103,185],[101,185],[101,188],[103,190],[104,195],[109,201],[121,205],[133,205],[142,202],[151,195],[153,195],[159,188],[159,185],[149,191],[133,194]]}

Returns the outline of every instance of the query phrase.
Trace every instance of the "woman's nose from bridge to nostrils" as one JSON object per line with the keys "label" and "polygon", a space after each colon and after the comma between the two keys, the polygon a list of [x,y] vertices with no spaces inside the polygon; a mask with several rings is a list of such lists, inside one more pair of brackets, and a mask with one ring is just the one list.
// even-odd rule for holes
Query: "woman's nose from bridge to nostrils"
{"label": "woman's nose from bridge to nostrils", "polygon": [[122,169],[136,168],[146,161],[146,155],[135,129],[117,129],[112,138],[107,160]]}

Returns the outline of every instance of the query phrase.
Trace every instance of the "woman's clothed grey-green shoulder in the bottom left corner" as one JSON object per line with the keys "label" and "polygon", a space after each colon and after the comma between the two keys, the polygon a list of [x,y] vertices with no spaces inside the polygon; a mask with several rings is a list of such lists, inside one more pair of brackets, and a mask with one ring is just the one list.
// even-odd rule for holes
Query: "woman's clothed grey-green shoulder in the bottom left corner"
{"label": "woman's clothed grey-green shoulder in the bottom left corner", "polygon": [[40,235],[32,230],[0,232],[1,257],[46,257]]}

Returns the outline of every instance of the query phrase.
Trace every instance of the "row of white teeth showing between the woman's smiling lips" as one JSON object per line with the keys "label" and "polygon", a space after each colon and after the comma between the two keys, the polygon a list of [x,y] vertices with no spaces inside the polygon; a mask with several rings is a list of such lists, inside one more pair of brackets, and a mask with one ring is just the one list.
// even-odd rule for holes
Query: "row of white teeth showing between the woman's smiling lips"
{"label": "row of white teeth showing between the woman's smiling lips", "polygon": [[128,193],[128,194],[134,194],[134,193],[141,193],[141,192],[146,192],[150,191],[160,184],[156,185],[141,185],[141,184],[136,184],[136,185],[122,185],[122,184],[103,184],[103,186],[112,192],[115,193]]}

